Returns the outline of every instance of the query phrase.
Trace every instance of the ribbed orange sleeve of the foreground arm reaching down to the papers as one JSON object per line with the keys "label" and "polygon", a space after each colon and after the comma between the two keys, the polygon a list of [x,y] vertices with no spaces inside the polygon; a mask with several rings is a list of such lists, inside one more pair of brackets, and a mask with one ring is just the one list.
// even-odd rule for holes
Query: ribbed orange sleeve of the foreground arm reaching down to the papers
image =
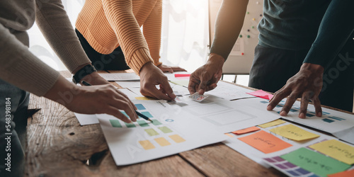
{"label": "ribbed orange sleeve of the foreground arm reaching down to the papers", "polygon": [[147,62],[154,62],[132,12],[132,0],[102,0],[108,23],[117,35],[127,64],[139,74]]}

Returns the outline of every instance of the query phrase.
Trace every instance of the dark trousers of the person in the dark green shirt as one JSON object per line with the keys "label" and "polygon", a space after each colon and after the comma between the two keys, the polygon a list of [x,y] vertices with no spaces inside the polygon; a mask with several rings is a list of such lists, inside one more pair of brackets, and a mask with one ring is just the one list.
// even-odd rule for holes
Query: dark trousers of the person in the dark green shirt
{"label": "dark trousers of the person in the dark green shirt", "polygon": [[[308,50],[281,50],[258,45],[249,76],[249,86],[275,92],[299,72]],[[353,110],[354,40],[349,39],[336,59],[324,71],[322,105]]]}

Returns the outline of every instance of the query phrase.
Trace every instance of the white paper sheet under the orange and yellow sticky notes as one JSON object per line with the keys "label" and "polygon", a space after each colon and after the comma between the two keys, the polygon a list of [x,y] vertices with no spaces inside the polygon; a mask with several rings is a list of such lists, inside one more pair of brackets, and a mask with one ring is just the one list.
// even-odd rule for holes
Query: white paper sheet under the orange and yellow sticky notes
{"label": "white paper sheet under the orange and yellow sticky notes", "polygon": [[331,136],[325,135],[321,132],[316,132],[314,130],[309,130],[305,127],[301,127],[301,128],[303,130],[308,131],[308,132],[312,132],[316,135],[320,135],[320,137],[317,137],[315,139],[309,139],[309,140],[297,142],[297,141],[293,141],[291,139],[287,139],[285,137],[282,137],[280,135],[276,135],[275,133],[269,131],[270,129],[273,129],[275,127],[281,127],[281,126],[288,125],[288,124],[291,124],[291,123],[286,122],[281,125],[275,125],[275,126],[267,127],[267,128],[259,127],[261,130],[268,132],[268,133],[274,135],[275,137],[282,139],[283,141],[285,141],[289,144],[292,144],[292,147],[282,149],[278,152],[264,154],[263,152],[259,151],[258,149],[251,147],[249,144],[246,144],[245,142],[242,142],[241,140],[238,139],[240,137],[246,137],[246,136],[252,135],[253,133],[256,133],[256,132],[250,132],[250,133],[246,133],[244,135],[234,135],[233,133],[230,133],[230,135],[232,135],[232,137],[225,140],[223,143],[226,144],[228,147],[231,147],[232,149],[234,149],[236,152],[239,152],[239,153],[243,154],[244,156],[247,156],[249,159],[256,161],[258,164],[261,164],[262,166],[265,166],[265,168],[269,168],[270,165],[265,163],[265,161],[263,161],[263,158],[269,158],[269,157],[273,157],[273,156],[280,156],[282,154],[287,154],[287,153],[292,152],[296,149],[299,149],[300,147],[307,147],[311,144],[315,144],[316,142],[324,141],[324,139],[336,139],[335,137],[331,137]]}

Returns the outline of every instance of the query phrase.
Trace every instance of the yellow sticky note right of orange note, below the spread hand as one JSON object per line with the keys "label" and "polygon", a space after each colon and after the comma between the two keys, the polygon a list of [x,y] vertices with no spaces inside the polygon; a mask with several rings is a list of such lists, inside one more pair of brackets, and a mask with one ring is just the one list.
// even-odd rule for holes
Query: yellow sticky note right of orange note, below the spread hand
{"label": "yellow sticky note right of orange note, below the spread hand", "polygon": [[300,127],[297,127],[295,125],[289,124],[289,125],[284,125],[281,127],[276,127],[273,129],[269,130],[270,132],[274,132],[277,135],[280,135],[282,137],[286,137],[288,139],[292,139],[295,141],[302,141],[306,139],[312,139],[315,137],[319,137],[319,135],[316,135],[312,132],[307,132],[306,130],[303,130]]}

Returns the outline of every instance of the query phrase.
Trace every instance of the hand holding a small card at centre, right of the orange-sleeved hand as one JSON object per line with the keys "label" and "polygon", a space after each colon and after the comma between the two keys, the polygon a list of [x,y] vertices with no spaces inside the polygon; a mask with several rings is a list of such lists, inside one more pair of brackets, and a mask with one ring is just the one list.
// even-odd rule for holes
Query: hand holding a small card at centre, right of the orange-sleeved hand
{"label": "hand holding a small card at centre, right of the orange-sleeved hand", "polygon": [[217,82],[222,76],[222,66],[224,58],[217,54],[210,54],[206,64],[199,67],[190,74],[188,91],[193,94],[198,91],[199,94],[204,94],[205,91],[210,91],[217,87]]}

